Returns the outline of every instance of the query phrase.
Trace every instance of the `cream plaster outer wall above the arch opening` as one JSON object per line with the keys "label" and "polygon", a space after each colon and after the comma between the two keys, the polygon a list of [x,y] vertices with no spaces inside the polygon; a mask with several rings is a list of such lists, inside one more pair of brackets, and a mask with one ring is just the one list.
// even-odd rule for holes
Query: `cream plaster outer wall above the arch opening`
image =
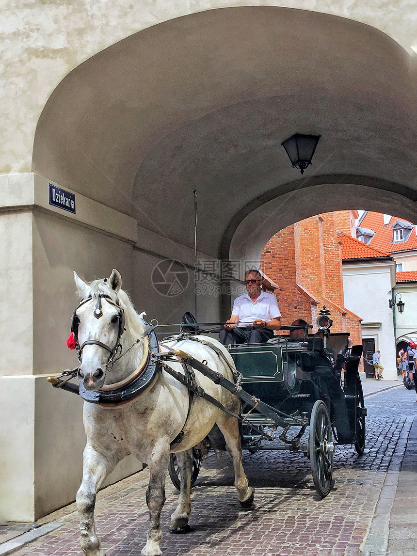
{"label": "cream plaster outer wall above the arch opening", "polygon": [[[25,0],[3,8],[0,55],[1,92],[0,173],[31,171],[34,133],[46,101],[62,79],[88,58],[134,33],[173,18],[216,8],[279,6],[306,9],[366,23],[393,38],[408,53],[417,49],[417,14],[410,0],[390,4],[378,0],[345,3],[327,0],[84,0],[56,7],[50,2]],[[16,99],[19,110],[16,111]]]}

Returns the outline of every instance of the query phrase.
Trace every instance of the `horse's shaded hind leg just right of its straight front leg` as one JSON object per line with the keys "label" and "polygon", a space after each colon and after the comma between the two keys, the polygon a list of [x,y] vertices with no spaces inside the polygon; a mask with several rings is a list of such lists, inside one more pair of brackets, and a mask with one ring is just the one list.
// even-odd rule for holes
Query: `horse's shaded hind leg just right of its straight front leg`
{"label": "horse's shaded hind leg just right of its straight front leg", "polygon": [[175,512],[171,515],[170,532],[186,533],[191,515],[191,474],[193,464],[192,449],[176,454],[181,474],[180,496]]}

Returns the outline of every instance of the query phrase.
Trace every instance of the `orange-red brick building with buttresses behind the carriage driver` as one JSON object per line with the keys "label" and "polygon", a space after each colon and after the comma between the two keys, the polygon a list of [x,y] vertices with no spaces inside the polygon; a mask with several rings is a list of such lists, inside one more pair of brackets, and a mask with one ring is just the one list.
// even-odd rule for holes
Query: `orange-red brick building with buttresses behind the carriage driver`
{"label": "orange-red brick building with buttresses behind the carriage driver", "polygon": [[[282,322],[304,319],[315,326],[317,312],[331,311],[332,331],[350,332],[361,344],[361,318],[344,306],[341,241],[355,235],[356,211],[327,212],[280,230],[266,244],[262,271],[277,284]],[[316,330],[316,328],[314,329]]]}

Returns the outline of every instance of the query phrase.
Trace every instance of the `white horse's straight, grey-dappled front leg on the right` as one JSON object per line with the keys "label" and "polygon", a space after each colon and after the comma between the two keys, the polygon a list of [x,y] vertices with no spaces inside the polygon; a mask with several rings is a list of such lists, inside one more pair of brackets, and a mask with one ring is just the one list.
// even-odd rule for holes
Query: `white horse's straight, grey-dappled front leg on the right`
{"label": "white horse's straight, grey-dappled front leg on the right", "polygon": [[146,545],[142,548],[143,556],[160,556],[162,529],[160,517],[165,503],[165,477],[170,459],[170,445],[160,441],[155,445],[149,462],[149,484],[146,490],[146,504],[149,508],[150,526],[146,534]]}

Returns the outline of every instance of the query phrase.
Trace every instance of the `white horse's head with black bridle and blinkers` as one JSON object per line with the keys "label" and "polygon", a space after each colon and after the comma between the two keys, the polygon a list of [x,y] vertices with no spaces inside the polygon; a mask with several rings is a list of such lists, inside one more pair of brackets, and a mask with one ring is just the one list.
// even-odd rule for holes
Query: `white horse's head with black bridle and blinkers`
{"label": "white horse's head with black bridle and blinkers", "polygon": [[81,299],[71,326],[81,363],[78,378],[86,390],[100,390],[118,349],[121,349],[125,313],[117,293],[122,279],[115,269],[110,278],[95,280],[90,285],[83,282],[76,272],[74,279]]}

